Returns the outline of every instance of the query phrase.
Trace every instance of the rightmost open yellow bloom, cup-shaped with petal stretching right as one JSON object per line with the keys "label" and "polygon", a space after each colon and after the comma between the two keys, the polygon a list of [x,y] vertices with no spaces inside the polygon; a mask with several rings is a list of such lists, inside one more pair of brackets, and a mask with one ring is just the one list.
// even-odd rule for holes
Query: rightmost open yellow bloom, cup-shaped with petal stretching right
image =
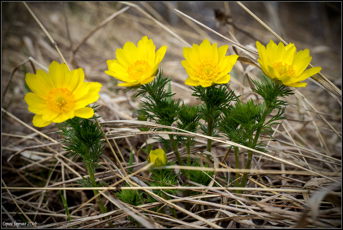
{"label": "rightmost open yellow bloom, cup-shaped with petal stretching right", "polygon": [[321,67],[305,70],[312,59],[310,51],[304,49],[297,53],[297,49],[292,43],[285,47],[281,42],[276,45],[270,40],[266,49],[257,41],[256,47],[260,56],[258,62],[262,71],[276,84],[305,87],[307,83],[299,81],[303,81],[321,70]]}

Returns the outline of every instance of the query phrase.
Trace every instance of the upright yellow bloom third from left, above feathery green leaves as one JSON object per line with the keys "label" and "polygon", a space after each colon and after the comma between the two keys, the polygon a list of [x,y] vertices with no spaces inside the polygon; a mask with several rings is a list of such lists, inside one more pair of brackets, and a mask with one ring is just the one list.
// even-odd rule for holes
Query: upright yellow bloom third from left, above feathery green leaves
{"label": "upright yellow bloom third from left, above feathery green leaves", "polygon": [[205,39],[200,46],[193,44],[193,47],[184,47],[183,53],[186,60],[181,61],[185,67],[189,78],[186,78],[185,84],[202,87],[208,87],[217,84],[229,82],[228,74],[237,61],[238,55],[225,56],[228,45],[217,49],[217,43],[212,46]]}

